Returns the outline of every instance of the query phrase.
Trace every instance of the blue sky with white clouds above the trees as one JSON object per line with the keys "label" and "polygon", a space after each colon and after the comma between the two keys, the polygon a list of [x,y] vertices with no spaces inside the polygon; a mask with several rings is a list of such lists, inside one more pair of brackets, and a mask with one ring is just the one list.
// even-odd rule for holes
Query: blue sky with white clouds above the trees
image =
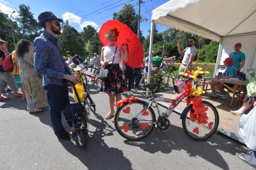
{"label": "blue sky with white clouds above the trees", "polygon": [[[41,12],[52,11],[57,17],[63,17],[64,20],[69,20],[70,25],[75,26],[78,31],[81,31],[81,28],[86,25],[92,25],[96,29],[101,28],[102,23],[113,19],[113,13],[121,10],[123,4],[126,2],[134,5],[136,13],[138,12],[138,0],[0,0],[0,10],[10,14],[11,11],[19,8],[19,4],[29,5],[36,19]],[[150,28],[152,9],[164,4],[167,0],[144,0],[143,2],[145,3],[141,5],[141,13],[148,21],[142,22],[140,29],[142,30],[142,34],[146,37],[146,35],[148,35],[148,29]],[[90,14],[93,11],[97,11],[96,13],[98,14]],[[146,13],[146,11],[149,12]],[[102,19],[102,17],[105,18]],[[161,32],[167,28],[157,25],[157,29]]]}

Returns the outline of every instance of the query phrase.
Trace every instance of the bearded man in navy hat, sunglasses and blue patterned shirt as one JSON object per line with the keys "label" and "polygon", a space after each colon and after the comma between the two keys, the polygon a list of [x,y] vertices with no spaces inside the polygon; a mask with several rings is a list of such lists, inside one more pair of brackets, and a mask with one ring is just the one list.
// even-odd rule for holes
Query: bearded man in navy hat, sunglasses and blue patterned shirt
{"label": "bearded man in navy hat, sunglasses and blue patterned shirt", "polygon": [[[56,38],[61,33],[60,22],[63,20],[48,11],[39,14],[38,20],[44,31],[34,40],[34,67],[37,73],[43,75],[54,133],[59,139],[70,139],[61,123],[61,111],[69,104],[67,83],[63,80],[78,83],[80,78],[67,66]],[[69,125],[72,126],[70,122]]]}

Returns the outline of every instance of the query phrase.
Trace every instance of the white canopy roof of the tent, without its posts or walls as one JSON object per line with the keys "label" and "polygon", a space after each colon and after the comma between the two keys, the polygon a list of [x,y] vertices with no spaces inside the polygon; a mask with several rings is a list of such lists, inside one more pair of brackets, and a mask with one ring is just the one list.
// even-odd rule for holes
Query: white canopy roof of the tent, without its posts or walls
{"label": "white canopy roof of the tent, without its posts or walls", "polygon": [[151,20],[219,42],[256,33],[256,0],[171,0],[155,8]]}

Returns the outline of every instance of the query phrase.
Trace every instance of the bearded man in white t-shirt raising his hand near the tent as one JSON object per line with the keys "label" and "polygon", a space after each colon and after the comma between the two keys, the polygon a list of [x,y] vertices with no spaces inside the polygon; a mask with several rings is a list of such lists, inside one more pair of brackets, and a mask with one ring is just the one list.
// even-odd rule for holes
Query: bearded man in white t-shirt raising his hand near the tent
{"label": "bearded man in white t-shirt raising his hand near the tent", "polygon": [[183,61],[181,61],[180,72],[187,70],[192,71],[193,60],[196,56],[196,47],[195,47],[196,39],[194,37],[189,38],[189,46],[186,49],[181,50],[180,43],[177,44],[178,52],[180,55],[184,55]]}

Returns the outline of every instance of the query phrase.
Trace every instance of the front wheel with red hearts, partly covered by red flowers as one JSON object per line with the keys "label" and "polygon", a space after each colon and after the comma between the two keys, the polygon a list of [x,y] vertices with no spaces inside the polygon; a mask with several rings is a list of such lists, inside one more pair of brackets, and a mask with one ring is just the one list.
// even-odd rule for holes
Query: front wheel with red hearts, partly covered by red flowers
{"label": "front wheel with red hearts, partly covered by red flowers", "polygon": [[207,124],[198,124],[196,121],[190,120],[190,114],[193,111],[193,105],[190,104],[184,109],[184,115],[182,124],[183,130],[189,138],[195,141],[204,141],[207,138],[210,138],[217,130],[219,126],[219,113],[217,109],[209,102],[202,101],[205,107],[208,108],[206,111],[208,117]]}

